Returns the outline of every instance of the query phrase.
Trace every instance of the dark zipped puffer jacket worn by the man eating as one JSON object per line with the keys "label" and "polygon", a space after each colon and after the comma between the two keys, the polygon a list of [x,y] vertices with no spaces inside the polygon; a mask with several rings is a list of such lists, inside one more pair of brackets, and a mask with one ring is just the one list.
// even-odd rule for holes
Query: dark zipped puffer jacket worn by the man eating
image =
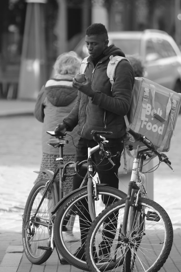
{"label": "dark zipped puffer jacket worn by the man eating", "polygon": [[113,46],[94,67],[93,60],[88,57],[85,76],[91,81],[94,98],[78,91],[77,103],[63,122],[72,130],[78,123],[78,134],[82,138],[92,139],[91,130],[112,131],[107,138],[120,138],[125,134],[124,115],[128,113],[132,88],[134,85],[134,70],[131,64],[122,60],[115,71],[113,88],[107,76],[107,64],[111,55],[123,56],[124,53]]}

